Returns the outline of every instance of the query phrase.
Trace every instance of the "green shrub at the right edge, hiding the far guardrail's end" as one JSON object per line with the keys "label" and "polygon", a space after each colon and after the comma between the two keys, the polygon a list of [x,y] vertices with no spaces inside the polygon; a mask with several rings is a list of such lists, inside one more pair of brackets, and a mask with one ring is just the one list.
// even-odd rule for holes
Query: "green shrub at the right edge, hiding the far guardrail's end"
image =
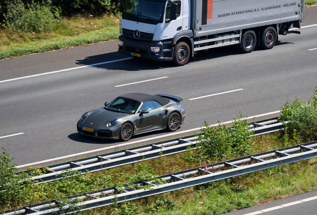
{"label": "green shrub at the right edge, hiding the far guardrail's end", "polygon": [[299,99],[293,103],[287,101],[281,113],[281,120],[289,122],[285,127],[290,138],[296,136],[295,133],[305,142],[317,140],[317,90],[308,102]]}

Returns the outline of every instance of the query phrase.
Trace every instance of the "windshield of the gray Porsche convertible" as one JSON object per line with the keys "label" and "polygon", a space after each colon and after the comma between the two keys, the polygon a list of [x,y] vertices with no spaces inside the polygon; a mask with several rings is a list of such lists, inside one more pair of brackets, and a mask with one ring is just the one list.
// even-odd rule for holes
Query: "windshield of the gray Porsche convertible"
{"label": "windshield of the gray Porsche convertible", "polygon": [[106,109],[114,112],[136,113],[140,105],[141,102],[136,100],[118,97],[107,105]]}

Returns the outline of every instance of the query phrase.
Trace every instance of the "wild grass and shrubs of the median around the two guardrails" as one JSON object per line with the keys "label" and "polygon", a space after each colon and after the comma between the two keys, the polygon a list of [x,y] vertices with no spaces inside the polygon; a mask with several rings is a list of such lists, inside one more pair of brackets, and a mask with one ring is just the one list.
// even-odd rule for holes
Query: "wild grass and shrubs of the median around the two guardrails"
{"label": "wild grass and shrubs of the median around the two guardrails", "polygon": [[[287,102],[282,107],[282,118],[287,118],[290,126],[292,120],[311,119],[316,108],[307,109],[307,105],[314,103],[317,91],[309,102],[293,104]],[[305,111],[301,111],[304,108]],[[293,111],[294,109],[294,111]],[[308,112],[311,114],[308,114]],[[294,113],[298,113],[294,114]],[[241,115],[240,115],[241,117]],[[217,128],[202,129],[204,136],[200,136],[200,148],[168,157],[142,161],[137,165],[127,165],[119,168],[79,175],[75,171],[65,171],[63,175],[74,175],[53,182],[34,185],[26,180],[26,175],[14,176],[16,168],[10,166],[8,153],[2,148],[0,156],[0,186],[5,190],[0,192],[0,211],[18,208],[35,203],[63,199],[62,202],[74,202],[65,199],[67,196],[99,190],[111,186],[131,186],[132,182],[140,180],[157,180],[159,175],[178,172],[197,166],[215,163],[223,159],[244,156],[248,153],[260,153],[297,145],[304,141],[305,129],[288,128],[281,132],[248,138],[250,131],[248,124],[240,117],[235,120],[233,127],[220,125]],[[206,124],[207,125],[207,124]],[[233,129],[234,128],[234,129]],[[290,132],[290,133],[289,133]],[[252,133],[251,133],[252,134]],[[216,145],[217,140],[223,145]],[[309,140],[316,140],[309,137]],[[208,141],[210,145],[208,145]],[[219,150],[219,151],[218,151]],[[136,201],[116,203],[80,214],[105,215],[219,215],[232,210],[250,207],[259,203],[284,198],[317,189],[317,159],[303,160],[293,164],[257,171],[246,175],[220,180],[192,188],[148,197]],[[30,169],[30,175],[43,174],[38,169]],[[20,183],[22,182],[22,183]],[[62,206],[61,206],[62,207]],[[63,213],[66,213],[66,211]]]}

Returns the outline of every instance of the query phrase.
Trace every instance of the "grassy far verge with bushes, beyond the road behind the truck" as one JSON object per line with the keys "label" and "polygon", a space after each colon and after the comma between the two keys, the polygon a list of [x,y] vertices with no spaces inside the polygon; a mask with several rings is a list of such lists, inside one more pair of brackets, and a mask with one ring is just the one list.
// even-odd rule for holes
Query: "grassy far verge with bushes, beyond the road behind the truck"
{"label": "grassy far verge with bushes, beyond the road behind the truck", "polygon": [[[306,0],[306,6],[317,0]],[[0,59],[119,37],[120,0],[0,0]]]}

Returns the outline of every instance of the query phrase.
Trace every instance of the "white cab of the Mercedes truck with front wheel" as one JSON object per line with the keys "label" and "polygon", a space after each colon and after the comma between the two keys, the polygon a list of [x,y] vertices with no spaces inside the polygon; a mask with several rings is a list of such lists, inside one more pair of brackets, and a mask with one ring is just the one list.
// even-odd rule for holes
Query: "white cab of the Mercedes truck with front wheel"
{"label": "white cab of the Mercedes truck with front wheel", "polygon": [[[124,0],[119,53],[155,61],[173,60],[174,43],[191,44],[188,0]],[[189,58],[187,45],[176,53],[178,63]]]}

